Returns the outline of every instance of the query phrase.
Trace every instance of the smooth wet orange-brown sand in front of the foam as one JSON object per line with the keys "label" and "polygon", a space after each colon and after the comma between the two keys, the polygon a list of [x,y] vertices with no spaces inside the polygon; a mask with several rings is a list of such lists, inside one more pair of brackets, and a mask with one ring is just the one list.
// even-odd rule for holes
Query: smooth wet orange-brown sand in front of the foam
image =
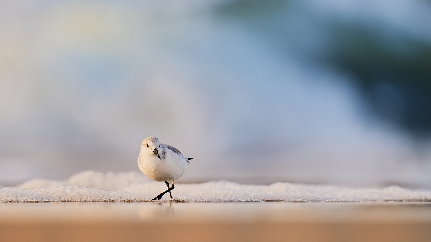
{"label": "smooth wet orange-brown sand in front of the foam", "polygon": [[0,241],[429,242],[431,203],[0,203]]}

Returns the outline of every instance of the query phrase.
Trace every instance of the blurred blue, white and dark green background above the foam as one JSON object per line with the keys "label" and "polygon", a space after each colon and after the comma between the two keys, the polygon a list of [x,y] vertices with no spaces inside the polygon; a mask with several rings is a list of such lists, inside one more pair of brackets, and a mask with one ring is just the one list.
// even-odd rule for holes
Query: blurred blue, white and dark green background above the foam
{"label": "blurred blue, white and dark green background above the foam", "polygon": [[179,182],[431,188],[431,1],[0,1],[0,186],[148,136]]}

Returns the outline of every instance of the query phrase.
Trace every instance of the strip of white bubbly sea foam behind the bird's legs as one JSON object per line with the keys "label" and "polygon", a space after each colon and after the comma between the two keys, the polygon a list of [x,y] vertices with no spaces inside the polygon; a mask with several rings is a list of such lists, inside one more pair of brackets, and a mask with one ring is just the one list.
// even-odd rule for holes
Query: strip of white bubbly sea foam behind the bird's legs
{"label": "strip of white bubbly sea foam behind the bird's legs", "polygon": [[[83,171],[66,181],[34,179],[0,187],[0,202],[147,202],[167,189],[137,172]],[[431,191],[399,186],[354,189],[342,186],[273,183],[242,185],[225,180],[177,184],[178,202],[431,202]],[[165,195],[161,201],[169,201]]]}

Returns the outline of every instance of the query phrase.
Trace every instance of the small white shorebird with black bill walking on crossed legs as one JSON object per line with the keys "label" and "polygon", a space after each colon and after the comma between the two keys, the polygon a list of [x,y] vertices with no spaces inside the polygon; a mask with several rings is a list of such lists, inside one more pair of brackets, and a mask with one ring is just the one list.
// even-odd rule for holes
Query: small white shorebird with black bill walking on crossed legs
{"label": "small white shorebird with black bill walking on crossed legs", "polygon": [[[166,192],[169,192],[172,199],[171,191],[175,188],[174,182],[186,172],[187,164],[191,159],[193,158],[186,159],[174,146],[161,144],[156,137],[147,137],[142,141],[141,152],[137,158],[139,169],[147,177],[158,182],[165,182],[168,186],[166,191],[153,200],[162,199]],[[172,183],[171,187],[169,187],[169,182]]]}

